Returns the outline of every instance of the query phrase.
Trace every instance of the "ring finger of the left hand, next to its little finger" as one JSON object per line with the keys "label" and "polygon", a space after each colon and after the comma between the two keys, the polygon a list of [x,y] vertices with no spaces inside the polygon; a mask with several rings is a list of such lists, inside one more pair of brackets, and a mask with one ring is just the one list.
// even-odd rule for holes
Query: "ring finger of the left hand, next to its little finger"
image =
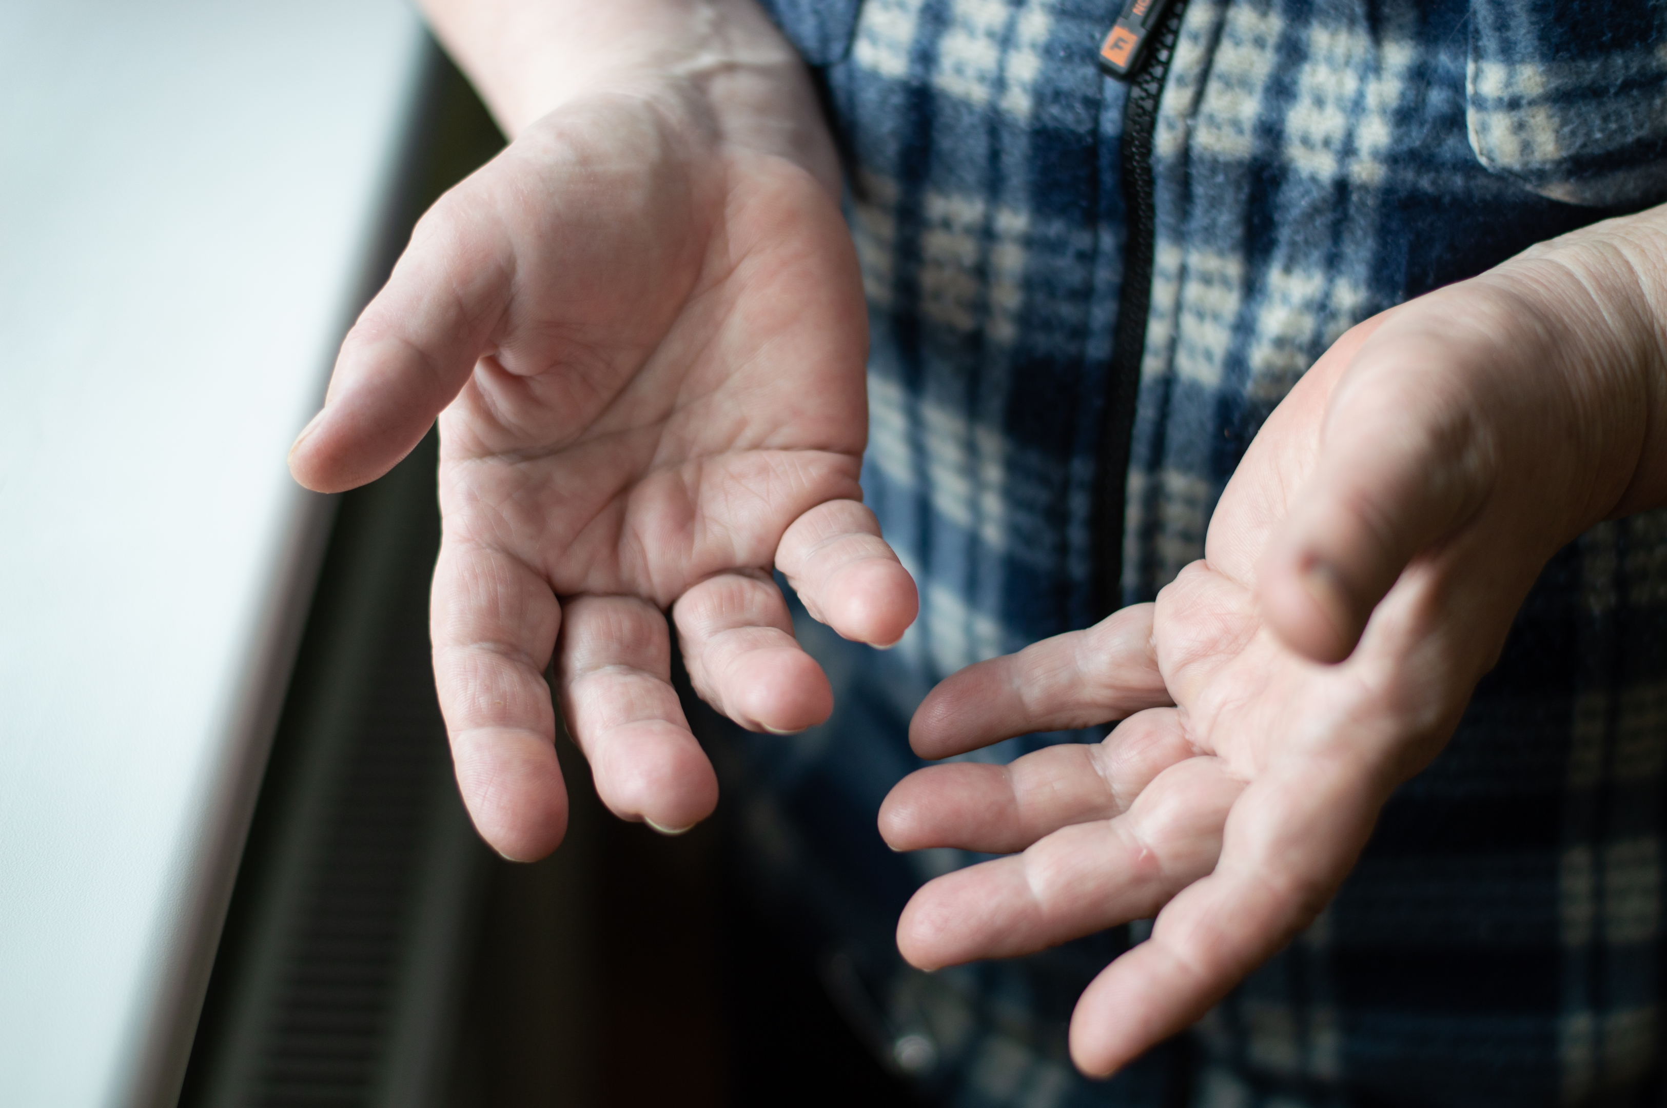
{"label": "ring finger of the left hand, next to its little finger", "polygon": [[828,718],[834,690],[793,640],[793,618],[763,573],[720,573],[672,608],[695,691],[753,731],[792,735]]}

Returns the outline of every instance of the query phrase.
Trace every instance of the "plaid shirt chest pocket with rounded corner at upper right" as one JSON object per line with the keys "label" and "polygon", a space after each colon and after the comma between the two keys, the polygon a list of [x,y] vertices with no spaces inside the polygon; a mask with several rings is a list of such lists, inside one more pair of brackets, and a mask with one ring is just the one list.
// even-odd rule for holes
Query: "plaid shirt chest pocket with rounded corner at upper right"
{"label": "plaid shirt chest pocket with rounded corner at upper right", "polygon": [[1667,2],[1470,0],[1470,148],[1554,200],[1667,200],[1664,47]]}

